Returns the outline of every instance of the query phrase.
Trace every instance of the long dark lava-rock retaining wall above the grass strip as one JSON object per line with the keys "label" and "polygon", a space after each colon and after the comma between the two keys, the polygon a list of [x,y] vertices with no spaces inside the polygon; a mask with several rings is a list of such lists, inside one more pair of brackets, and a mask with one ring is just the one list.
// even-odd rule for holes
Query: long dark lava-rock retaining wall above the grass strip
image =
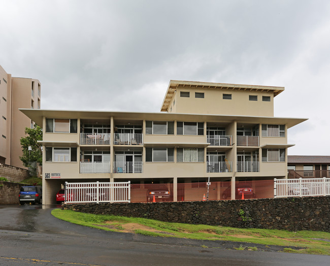
{"label": "long dark lava-rock retaining wall above the grass strip", "polygon": [[[330,231],[329,206],[330,196],[322,196],[206,202],[63,204],[62,209],[238,228]],[[240,210],[243,211],[241,214]]]}

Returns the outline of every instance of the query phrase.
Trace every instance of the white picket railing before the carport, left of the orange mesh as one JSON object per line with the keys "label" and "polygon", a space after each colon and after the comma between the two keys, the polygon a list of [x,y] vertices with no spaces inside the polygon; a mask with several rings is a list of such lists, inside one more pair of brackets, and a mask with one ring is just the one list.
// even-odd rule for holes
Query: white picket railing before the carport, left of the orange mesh
{"label": "white picket railing before the carport, left of the orange mesh", "polygon": [[128,182],[65,182],[64,203],[130,202]]}

